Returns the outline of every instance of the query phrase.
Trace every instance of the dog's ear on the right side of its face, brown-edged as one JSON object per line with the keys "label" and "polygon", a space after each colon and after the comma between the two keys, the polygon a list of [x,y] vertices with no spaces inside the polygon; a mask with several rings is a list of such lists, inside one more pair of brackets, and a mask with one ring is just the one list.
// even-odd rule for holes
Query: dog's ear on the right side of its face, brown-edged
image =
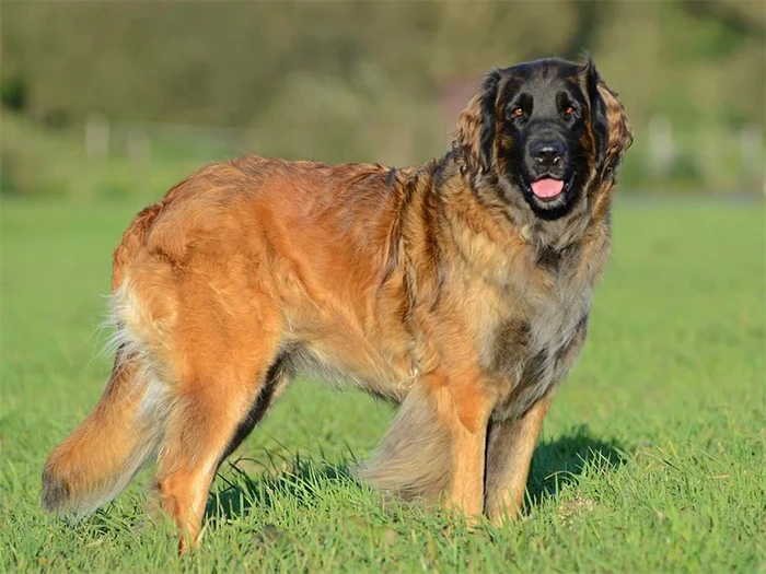
{"label": "dog's ear on the right side of its face, brown-edged", "polygon": [[593,60],[583,68],[591,104],[591,126],[595,140],[595,165],[600,172],[613,171],[632,143],[632,130],[617,94],[604,83]]}

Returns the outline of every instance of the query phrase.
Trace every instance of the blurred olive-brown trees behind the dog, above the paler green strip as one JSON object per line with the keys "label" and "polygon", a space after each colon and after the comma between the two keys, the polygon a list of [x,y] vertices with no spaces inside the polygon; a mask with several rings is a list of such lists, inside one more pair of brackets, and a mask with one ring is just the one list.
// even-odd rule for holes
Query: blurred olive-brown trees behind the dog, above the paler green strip
{"label": "blurred olive-brown trees behind the dog, above the paler green strip", "polygon": [[0,0],[5,107],[236,126],[288,156],[421,160],[456,119],[445,82],[583,50],[637,126],[766,125],[764,0]]}

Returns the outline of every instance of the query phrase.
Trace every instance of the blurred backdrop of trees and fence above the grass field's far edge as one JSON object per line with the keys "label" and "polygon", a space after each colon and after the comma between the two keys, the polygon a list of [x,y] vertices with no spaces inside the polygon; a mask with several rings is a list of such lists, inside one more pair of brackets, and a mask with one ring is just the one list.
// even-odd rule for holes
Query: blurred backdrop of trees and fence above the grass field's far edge
{"label": "blurred backdrop of trees and fence above the grass field's far edge", "polygon": [[254,152],[442,153],[492,66],[590,51],[637,194],[763,197],[763,0],[0,0],[0,195],[160,197]]}

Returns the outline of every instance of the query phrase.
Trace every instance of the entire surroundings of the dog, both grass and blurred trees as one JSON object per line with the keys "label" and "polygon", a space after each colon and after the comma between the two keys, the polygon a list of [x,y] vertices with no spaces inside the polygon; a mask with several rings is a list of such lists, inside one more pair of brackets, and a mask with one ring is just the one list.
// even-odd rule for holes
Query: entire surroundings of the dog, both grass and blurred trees
{"label": "entire surroundings of the dog, both grass and blurred trees", "polygon": [[[74,528],[40,511],[140,207],[243,153],[425,161],[491,67],[584,50],[636,141],[522,520],[469,531],[348,479],[394,413],[309,380],[222,467],[190,558],[149,480]],[[766,0],[0,0],[0,573],[766,574],[763,94]]]}

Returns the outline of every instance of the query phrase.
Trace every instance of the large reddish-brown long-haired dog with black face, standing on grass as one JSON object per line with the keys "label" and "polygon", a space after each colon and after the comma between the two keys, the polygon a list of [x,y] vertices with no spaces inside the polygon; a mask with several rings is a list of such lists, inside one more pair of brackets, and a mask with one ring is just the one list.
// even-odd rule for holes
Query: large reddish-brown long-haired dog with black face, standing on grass
{"label": "large reddish-brown long-haired dog with black face, standing on grass", "polygon": [[88,514],[155,459],[161,506],[196,542],[219,465],[307,370],[399,405],[369,483],[513,517],[585,341],[631,141],[590,59],[545,59],[489,73],[422,165],[197,172],[114,253],[114,367],[48,458],[44,506]]}

